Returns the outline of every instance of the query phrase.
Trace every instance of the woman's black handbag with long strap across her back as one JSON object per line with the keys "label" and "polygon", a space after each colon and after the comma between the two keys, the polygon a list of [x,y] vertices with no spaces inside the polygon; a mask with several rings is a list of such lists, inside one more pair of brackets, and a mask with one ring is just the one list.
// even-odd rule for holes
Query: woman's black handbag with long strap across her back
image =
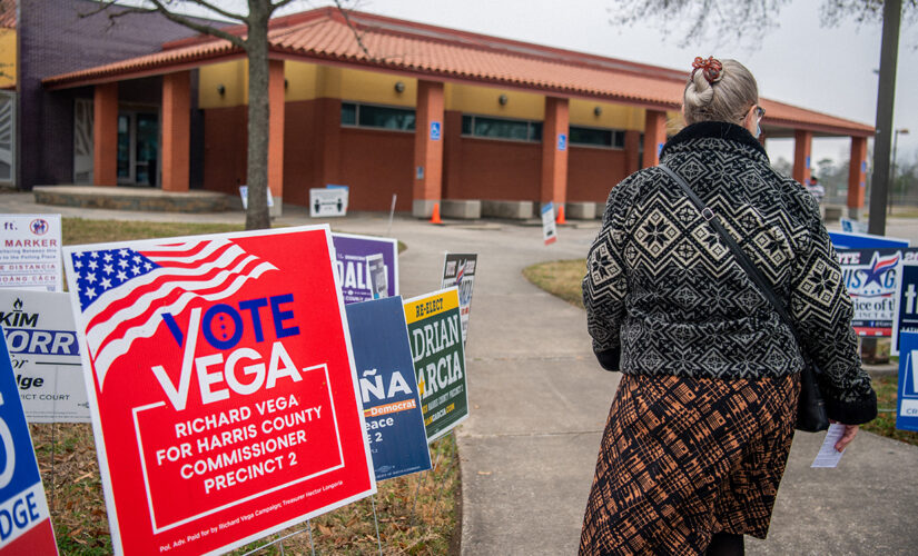
{"label": "woman's black handbag with long strap across her back", "polygon": [[822,394],[819,391],[819,385],[816,381],[816,377],[819,375],[819,368],[803,350],[800,335],[797,334],[797,327],[793,326],[793,320],[791,320],[783,301],[778,299],[778,296],[774,295],[764,276],[762,276],[759,269],[756,268],[756,265],[753,265],[749,257],[740,249],[740,246],[737,245],[737,241],[730,232],[727,231],[717,215],[694,193],[689,183],[665,165],[661,163],[660,169],[679,183],[682,191],[685,192],[701,212],[702,218],[720,234],[723,241],[733,252],[737,261],[743,270],[746,270],[746,274],[749,275],[752,282],[759,287],[762,296],[774,307],[778,316],[781,317],[781,320],[783,320],[784,324],[790,327],[791,332],[793,332],[793,337],[797,339],[797,345],[800,346],[800,351],[803,356],[803,370],[800,371],[800,396],[797,401],[797,424],[794,427],[806,433],[818,433],[828,429],[829,415],[826,411],[826,400],[822,399]]}

